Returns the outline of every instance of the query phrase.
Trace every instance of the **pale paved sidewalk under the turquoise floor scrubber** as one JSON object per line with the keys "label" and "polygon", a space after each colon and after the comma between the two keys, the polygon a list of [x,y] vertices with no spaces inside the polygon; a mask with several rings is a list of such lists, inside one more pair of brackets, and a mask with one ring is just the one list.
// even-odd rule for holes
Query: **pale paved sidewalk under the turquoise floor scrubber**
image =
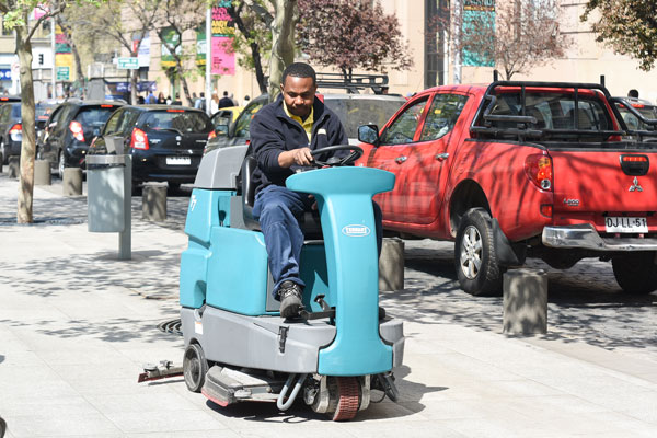
{"label": "pale paved sidewalk under the turquoise floor scrubber", "polygon": [[[563,336],[507,337],[440,318],[433,278],[406,269],[385,293],[405,320],[401,401],[332,423],[303,403],[218,407],[182,379],[137,383],[141,365],[180,362],[180,229],[134,216],[132,261],[118,235],[87,231],[84,197],[35,187],[15,224],[18,182],[0,174],[0,416],[8,437],[653,437],[657,357]],[[423,289],[424,285],[424,289]],[[641,330],[641,327],[636,327]]]}

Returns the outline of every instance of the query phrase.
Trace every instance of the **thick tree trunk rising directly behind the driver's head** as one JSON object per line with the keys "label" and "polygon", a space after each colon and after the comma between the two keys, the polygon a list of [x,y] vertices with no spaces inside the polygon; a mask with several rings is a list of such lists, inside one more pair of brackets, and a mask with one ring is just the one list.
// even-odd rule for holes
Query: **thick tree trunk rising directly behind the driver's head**
{"label": "thick tree trunk rising directly behind the driver's head", "polygon": [[269,60],[269,102],[280,93],[283,70],[295,61],[295,25],[299,20],[297,0],[273,0],[276,16],[272,22],[272,58]]}

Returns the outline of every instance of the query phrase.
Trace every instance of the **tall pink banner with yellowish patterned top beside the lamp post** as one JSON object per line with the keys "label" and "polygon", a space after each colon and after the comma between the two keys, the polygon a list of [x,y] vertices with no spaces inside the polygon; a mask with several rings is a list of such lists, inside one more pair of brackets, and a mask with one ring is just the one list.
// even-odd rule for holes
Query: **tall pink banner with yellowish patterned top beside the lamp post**
{"label": "tall pink banner with yellowish patterned top beside the lamp post", "polygon": [[212,74],[234,74],[235,54],[232,42],[235,36],[235,24],[227,8],[230,0],[220,0],[212,8]]}

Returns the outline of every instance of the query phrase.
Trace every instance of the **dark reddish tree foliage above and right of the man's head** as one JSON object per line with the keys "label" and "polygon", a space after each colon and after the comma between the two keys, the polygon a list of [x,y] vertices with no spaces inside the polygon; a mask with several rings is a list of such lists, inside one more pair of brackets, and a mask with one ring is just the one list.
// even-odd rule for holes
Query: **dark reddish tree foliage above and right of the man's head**
{"label": "dark reddish tree foliage above and right of the man's head", "polygon": [[345,79],[354,69],[413,66],[397,18],[385,14],[380,0],[299,0],[299,15],[301,50],[312,62],[337,67]]}

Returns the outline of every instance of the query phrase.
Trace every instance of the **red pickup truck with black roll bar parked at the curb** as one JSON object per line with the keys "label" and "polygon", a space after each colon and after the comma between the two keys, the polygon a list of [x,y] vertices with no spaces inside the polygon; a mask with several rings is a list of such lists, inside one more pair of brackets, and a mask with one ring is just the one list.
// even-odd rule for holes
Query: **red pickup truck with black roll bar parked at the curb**
{"label": "red pickup truck with black roll bar parked at the curb", "polygon": [[394,191],[376,197],[387,230],[456,241],[469,293],[499,293],[506,268],[527,256],[556,268],[611,261],[624,291],[649,293],[657,289],[657,131],[630,130],[622,103],[587,83],[437,87],[380,131],[359,127],[358,164],[396,175]]}

